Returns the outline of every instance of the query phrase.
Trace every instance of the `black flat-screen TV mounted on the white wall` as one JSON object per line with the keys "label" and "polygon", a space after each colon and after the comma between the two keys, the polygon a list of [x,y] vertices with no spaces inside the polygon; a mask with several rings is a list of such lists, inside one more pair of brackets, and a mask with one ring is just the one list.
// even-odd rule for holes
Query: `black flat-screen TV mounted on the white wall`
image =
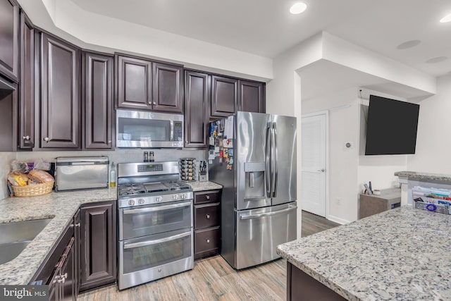
{"label": "black flat-screen TV mounted on the white wall", "polygon": [[419,104],[370,95],[365,154],[415,154],[419,109]]}

